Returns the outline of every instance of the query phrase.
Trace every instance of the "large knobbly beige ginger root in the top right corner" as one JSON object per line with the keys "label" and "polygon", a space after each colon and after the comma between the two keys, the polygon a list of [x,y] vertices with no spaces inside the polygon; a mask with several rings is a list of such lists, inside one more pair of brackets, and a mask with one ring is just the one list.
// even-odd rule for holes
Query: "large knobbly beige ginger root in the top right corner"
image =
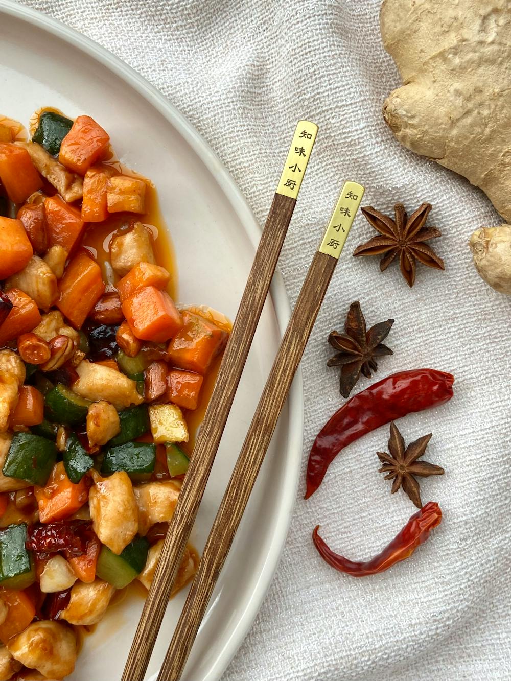
{"label": "large knobbly beige ginger root in the top right corner", "polygon": [[403,86],[383,114],[401,144],[480,187],[511,222],[511,4],[384,0],[384,48]]}

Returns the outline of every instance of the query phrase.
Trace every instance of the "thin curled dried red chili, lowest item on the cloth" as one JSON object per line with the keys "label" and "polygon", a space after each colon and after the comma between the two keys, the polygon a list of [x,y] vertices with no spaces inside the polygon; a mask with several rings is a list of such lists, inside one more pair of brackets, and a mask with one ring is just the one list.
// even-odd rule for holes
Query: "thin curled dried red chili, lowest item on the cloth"
{"label": "thin curled dried red chili, lowest item on the cloth", "polygon": [[316,525],[312,533],[312,541],[315,548],[318,549],[320,556],[326,560],[328,565],[335,567],[339,572],[345,572],[347,575],[353,577],[365,577],[366,575],[376,575],[379,572],[388,570],[389,567],[399,563],[400,560],[409,558],[416,548],[424,543],[429,537],[429,533],[433,528],[437,527],[442,522],[442,511],[437,503],[430,501],[414,513],[407,524],[403,527],[394,539],[390,542],[384,550],[367,560],[365,563],[355,563],[353,560],[347,560],[343,556],[334,553],[323,539],[318,535],[319,525]]}

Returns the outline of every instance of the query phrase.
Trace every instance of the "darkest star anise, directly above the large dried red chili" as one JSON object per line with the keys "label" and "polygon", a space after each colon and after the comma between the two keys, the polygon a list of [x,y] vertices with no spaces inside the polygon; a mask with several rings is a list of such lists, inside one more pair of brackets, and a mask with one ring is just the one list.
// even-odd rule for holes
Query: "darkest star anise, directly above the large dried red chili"
{"label": "darkest star anise, directly above the large dried red chili", "polygon": [[382,343],[388,336],[388,332],[394,323],[394,319],[380,321],[366,331],[365,318],[360,309],[358,300],[352,302],[344,323],[344,334],[332,331],[328,336],[328,343],[337,350],[327,362],[327,366],[340,366],[341,377],[339,379],[339,392],[345,398],[358,379],[360,373],[368,379],[371,371],[376,371],[377,357],[392,355],[392,350]]}

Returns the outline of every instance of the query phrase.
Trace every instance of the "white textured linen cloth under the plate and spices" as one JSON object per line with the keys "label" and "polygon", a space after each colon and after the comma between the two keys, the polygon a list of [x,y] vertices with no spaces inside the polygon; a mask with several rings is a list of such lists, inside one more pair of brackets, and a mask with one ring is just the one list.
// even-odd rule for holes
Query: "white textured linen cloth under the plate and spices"
{"label": "white textured linen cloth under the plate and spices", "polygon": [[[358,217],[303,359],[304,470],[315,433],[339,407],[326,368],[328,332],[360,300],[369,325],[394,317],[377,379],[431,366],[456,376],[455,397],[399,421],[406,441],[434,432],[425,479],[442,525],[411,560],[356,580],[322,562],[332,549],[369,558],[415,508],[390,496],[375,452],[388,428],[354,443],[309,501],[300,485],[290,534],[266,601],[224,681],[386,681],[511,678],[510,299],[479,279],[467,247],[500,219],[480,191],[394,140],[382,102],[399,78],[382,48],[380,0],[30,0],[117,54],[163,92],[226,164],[260,223],[298,118],[320,126],[280,269],[292,302],[342,180],[367,187],[364,205],[409,212],[433,204],[431,242],[446,272],[418,266],[409,289],[397,264],[355,259],[375,236]],[[253,167],[247,150],[258,151]],[[265,172],[261,172],[265,169]],[[356,390],[371,381],[361,379]],[[356,392],[356,390],[354,392]]]}

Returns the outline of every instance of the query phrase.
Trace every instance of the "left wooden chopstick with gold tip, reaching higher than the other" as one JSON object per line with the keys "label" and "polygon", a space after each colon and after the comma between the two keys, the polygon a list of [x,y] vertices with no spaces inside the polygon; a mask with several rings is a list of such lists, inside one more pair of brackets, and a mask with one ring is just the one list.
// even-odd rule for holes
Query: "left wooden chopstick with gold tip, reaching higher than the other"
{"label": "left wooden chopstick with gold tip, reaching higher than the other", "polygon": [[299,121],[296,125],[217,381],[193,447],[189,469],[170,522],[153,584],[131,644],[122,681],[142,681],[149,664],[172,584],[226,426],[317,133],[318,126],[315,123]]}

